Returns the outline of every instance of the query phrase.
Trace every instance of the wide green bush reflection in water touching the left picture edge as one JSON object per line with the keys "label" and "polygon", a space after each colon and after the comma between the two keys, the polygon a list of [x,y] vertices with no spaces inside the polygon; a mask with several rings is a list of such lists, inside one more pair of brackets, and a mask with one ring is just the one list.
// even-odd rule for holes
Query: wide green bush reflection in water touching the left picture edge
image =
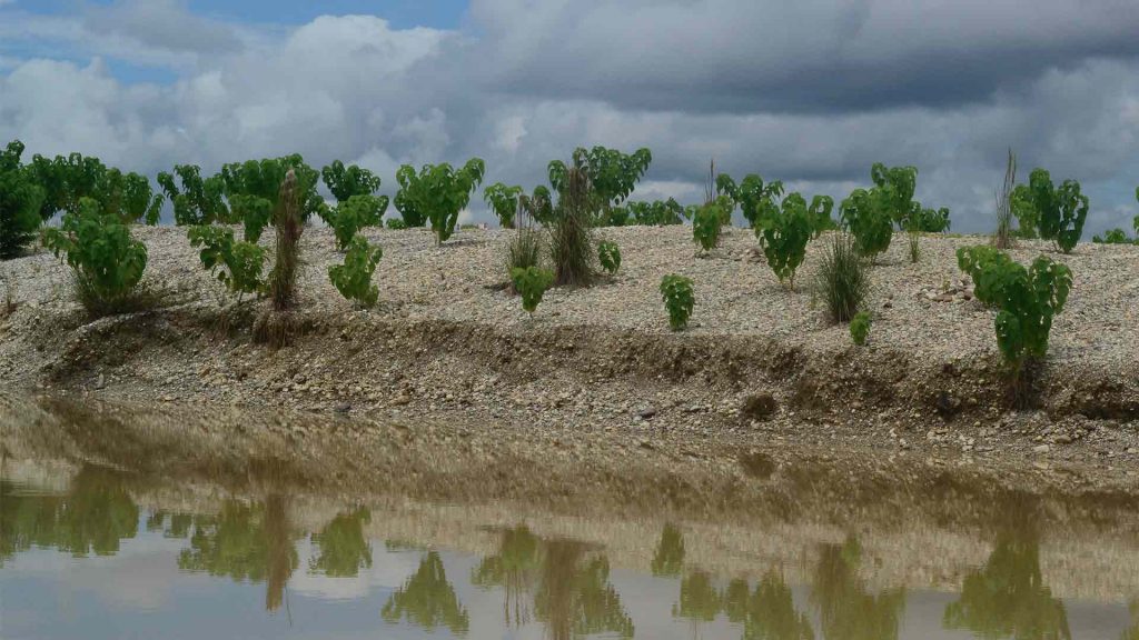
{"label": "wide green bush reflection in water touching the left picture edge", "polygon": [[84,468],[66,495],[30,494],[0,481],[0,565],[32,547],[110,556],[138,524],[122,476],[108,469]]}

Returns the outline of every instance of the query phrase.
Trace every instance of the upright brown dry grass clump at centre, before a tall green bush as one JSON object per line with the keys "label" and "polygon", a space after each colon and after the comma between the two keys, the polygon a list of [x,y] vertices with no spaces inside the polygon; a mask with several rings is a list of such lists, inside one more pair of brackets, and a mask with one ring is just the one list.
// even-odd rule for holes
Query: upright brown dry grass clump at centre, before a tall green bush
{"label": "upright brown dry grass clump at centre, before a tall green bush", "polygon": [[593,281],[590,194],[585,172],[576,166],[570,167],[550,224],[550,259],[557,286],[585,286]]}

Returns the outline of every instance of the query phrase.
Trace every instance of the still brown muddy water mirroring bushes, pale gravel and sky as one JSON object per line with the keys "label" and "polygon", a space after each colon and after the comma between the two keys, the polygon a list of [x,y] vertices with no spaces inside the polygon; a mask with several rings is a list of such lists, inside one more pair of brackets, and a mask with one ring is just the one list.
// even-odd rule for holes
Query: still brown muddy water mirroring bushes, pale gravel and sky
{"label": "still brown muddy water mirroring bushes, pale gravel and sky", "polygon": [[1139,639],[1131,503],[1070,498],[1076,519],[1021,495],[983,522],[729,522],[238,487],[3,451],[9,640]]}

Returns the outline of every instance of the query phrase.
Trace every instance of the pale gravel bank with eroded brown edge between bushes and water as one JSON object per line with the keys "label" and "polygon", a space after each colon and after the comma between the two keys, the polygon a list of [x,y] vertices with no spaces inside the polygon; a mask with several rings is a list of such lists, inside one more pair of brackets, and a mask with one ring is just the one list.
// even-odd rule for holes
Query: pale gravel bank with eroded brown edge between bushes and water
{"label": "pale gravel bank with eroded brown edge between bushes and water", "polygon": [[[1139,493],[1133,246],[1050,254],[1075,284],[1052,329],[1038,407],[1013,411],[992,312],[972,300],[953,256],[978,238],[923,238],[917,264],[894,243],[874,270],[875,322],[859,348],[812,302],[822,243],[789,293],[744,230],[706,257],[688,228],[604,230],[622,247],[621,272],[552,290],[528,318],[503,290],[507,231],[464,230],[436,247],[424,230],[370,230],[384,247],[380,303],[361,311],[328,282],[327,265],[341,260],[330,232],[310,229],[301,329],[272,352],[249,339],[262,303],[224,298],[182,230],[137,233],[149,284],[174,293],[171,306],[91,322],[50,255],[0,266],[15,289],[15,310],[0,319],[0,385],[81,400],[429,419],[524,442],[541,434],[534,446],[571,460],[665,442],[699,457],[730,444]],[[1041,252],[1050,249],[1022,243],[1013,254],[1027,262]],[[657,292],[670,272],[696,287],[693,326],[679,334]]]}

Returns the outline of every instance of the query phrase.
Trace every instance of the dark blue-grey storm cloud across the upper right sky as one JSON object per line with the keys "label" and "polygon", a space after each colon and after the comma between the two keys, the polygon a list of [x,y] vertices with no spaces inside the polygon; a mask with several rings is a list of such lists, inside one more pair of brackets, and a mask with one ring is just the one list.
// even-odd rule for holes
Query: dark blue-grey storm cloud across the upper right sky
{"label": "dark blue-grey storm cloud across the upper right sky", "polygon": [[475,0],[480,69],[623,108],[952,108],[1089,58],[1139,56],[1133,0]]}

